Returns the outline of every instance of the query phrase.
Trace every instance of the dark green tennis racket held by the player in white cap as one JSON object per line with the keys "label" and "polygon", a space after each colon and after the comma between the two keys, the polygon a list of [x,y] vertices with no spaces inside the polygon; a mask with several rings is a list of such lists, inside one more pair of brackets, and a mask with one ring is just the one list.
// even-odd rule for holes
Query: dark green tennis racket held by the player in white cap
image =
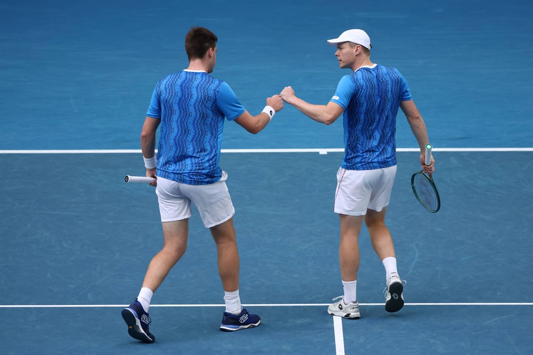
{"label": "dark green tennis racket held by the player in white cap", "polygon": [[[426,157],[424,163],[426,165],[431,164],[431,150],[433,146],[431,144],[426,144]],[[411,187],[413,187],[413,192],[415,197],[420,202],[426,210],[431,213],[435,213],[440,209],[440,197],[439,192],[437,191],[437,186],[433,181],[431,174],[428,174],[429,177],[424,174],[424,170],[415,172],[411,176]]]}

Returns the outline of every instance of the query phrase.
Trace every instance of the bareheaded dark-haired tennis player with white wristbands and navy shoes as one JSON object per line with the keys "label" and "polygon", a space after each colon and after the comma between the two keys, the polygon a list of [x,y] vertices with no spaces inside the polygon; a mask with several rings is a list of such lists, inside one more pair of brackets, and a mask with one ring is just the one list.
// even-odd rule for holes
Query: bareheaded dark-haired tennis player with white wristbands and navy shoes
{"label": "bareheaded dark-haired tennis player with white wristbands and navy shoes", "polygon": [[189,67],[159,80],[142,127],[146,176],[157,177],[150,185],[157,186],[164,246],[151,260],[138,298],[123,309],[122,316],[128,333],[145,342],[155,341],[149,332],[152,295],[187,248],[191,203],[211,230],[217,247],[226,307],[220,329],[237,331],[261,322],[258,315],[241,306],[235,209],[225,183],[228,174],[220,169],[219,159],[224,118],[256,134],[283,108],[283,101],[274,95],[266,99],[260,114],[248,113],[226,82],[209,75],[216,63],[216,42],[217,37],[208,29],[190,29],[185,36]]}

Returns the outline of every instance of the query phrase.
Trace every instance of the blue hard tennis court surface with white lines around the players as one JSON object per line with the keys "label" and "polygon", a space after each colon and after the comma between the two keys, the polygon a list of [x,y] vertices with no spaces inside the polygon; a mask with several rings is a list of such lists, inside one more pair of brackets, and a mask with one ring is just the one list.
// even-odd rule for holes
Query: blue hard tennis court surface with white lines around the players
{"label": "blue hard tennis court surface with white lines around the players", "polygon": [[[318,1],[0,4],[0,335],[5,354],[529,354],[533,294],[533,5]],[[296,21],[298,20],[298,21]],[[388,225],[406,306],[384,310],[383,266],[360,237],[361,319],[342,294],[335,174],[342,123],[286,105],[259,135],[228,122],[221,168],[236,208],[240,294],[261,326],[219,331],[216,249],[198,213],[188,251],[133,340],[120,310],[162,245],[139,134],[157,80],[187,65],[190,26],[219,37],[213,76],[257,114],[291,85],[326,103],[346,74],[326,39],[367,30],[429,128],[442,208],[418,204],[400,113]]]}

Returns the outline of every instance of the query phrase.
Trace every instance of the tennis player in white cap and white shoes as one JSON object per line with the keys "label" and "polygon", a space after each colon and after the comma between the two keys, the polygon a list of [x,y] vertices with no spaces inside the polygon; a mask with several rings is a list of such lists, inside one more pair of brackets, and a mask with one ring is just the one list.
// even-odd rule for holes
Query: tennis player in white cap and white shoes
{"label": "tennis player in white cap and white shoes", "polygon": [[359,270],[358,237],[365,221],[377,255],[386,274],[385,310],[403,307],[403,285],[398,275],[394,244],[385,225],[385,213],[396,174],[396,115],[398,108],[420,147],[420,163],[425,172],[433,173],[434,161],[425,166],[427,130],[418,112],[406,80],[395,68],[370,61],[370,38],[365,31],[351,29],[327,41],[337,47],[335,56],[340,68],[353,72],[338,83],[327,105],[313,105],[296,97],[292,87],[281,92],[288,104],[311,119],[330,125],[344,117],[345,153],[337,172],[335,212],[341,221],[339,257],[344,295],[328,307],[328,313],[344,318],[360,317],[357,302]]}

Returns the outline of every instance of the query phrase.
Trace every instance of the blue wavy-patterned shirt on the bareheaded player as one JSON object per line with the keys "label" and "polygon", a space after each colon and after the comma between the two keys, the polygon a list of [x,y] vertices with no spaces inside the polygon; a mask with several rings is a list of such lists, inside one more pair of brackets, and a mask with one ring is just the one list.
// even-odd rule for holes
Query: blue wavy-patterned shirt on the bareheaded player
{"label": "blue wavy-patterned shirt on the bareheaded player", "polygon": [[159,80],[146,115],[160,119],[157,176],[188,185],[219,181],[224,118],[245,112],[224,81],[183,70]]}

